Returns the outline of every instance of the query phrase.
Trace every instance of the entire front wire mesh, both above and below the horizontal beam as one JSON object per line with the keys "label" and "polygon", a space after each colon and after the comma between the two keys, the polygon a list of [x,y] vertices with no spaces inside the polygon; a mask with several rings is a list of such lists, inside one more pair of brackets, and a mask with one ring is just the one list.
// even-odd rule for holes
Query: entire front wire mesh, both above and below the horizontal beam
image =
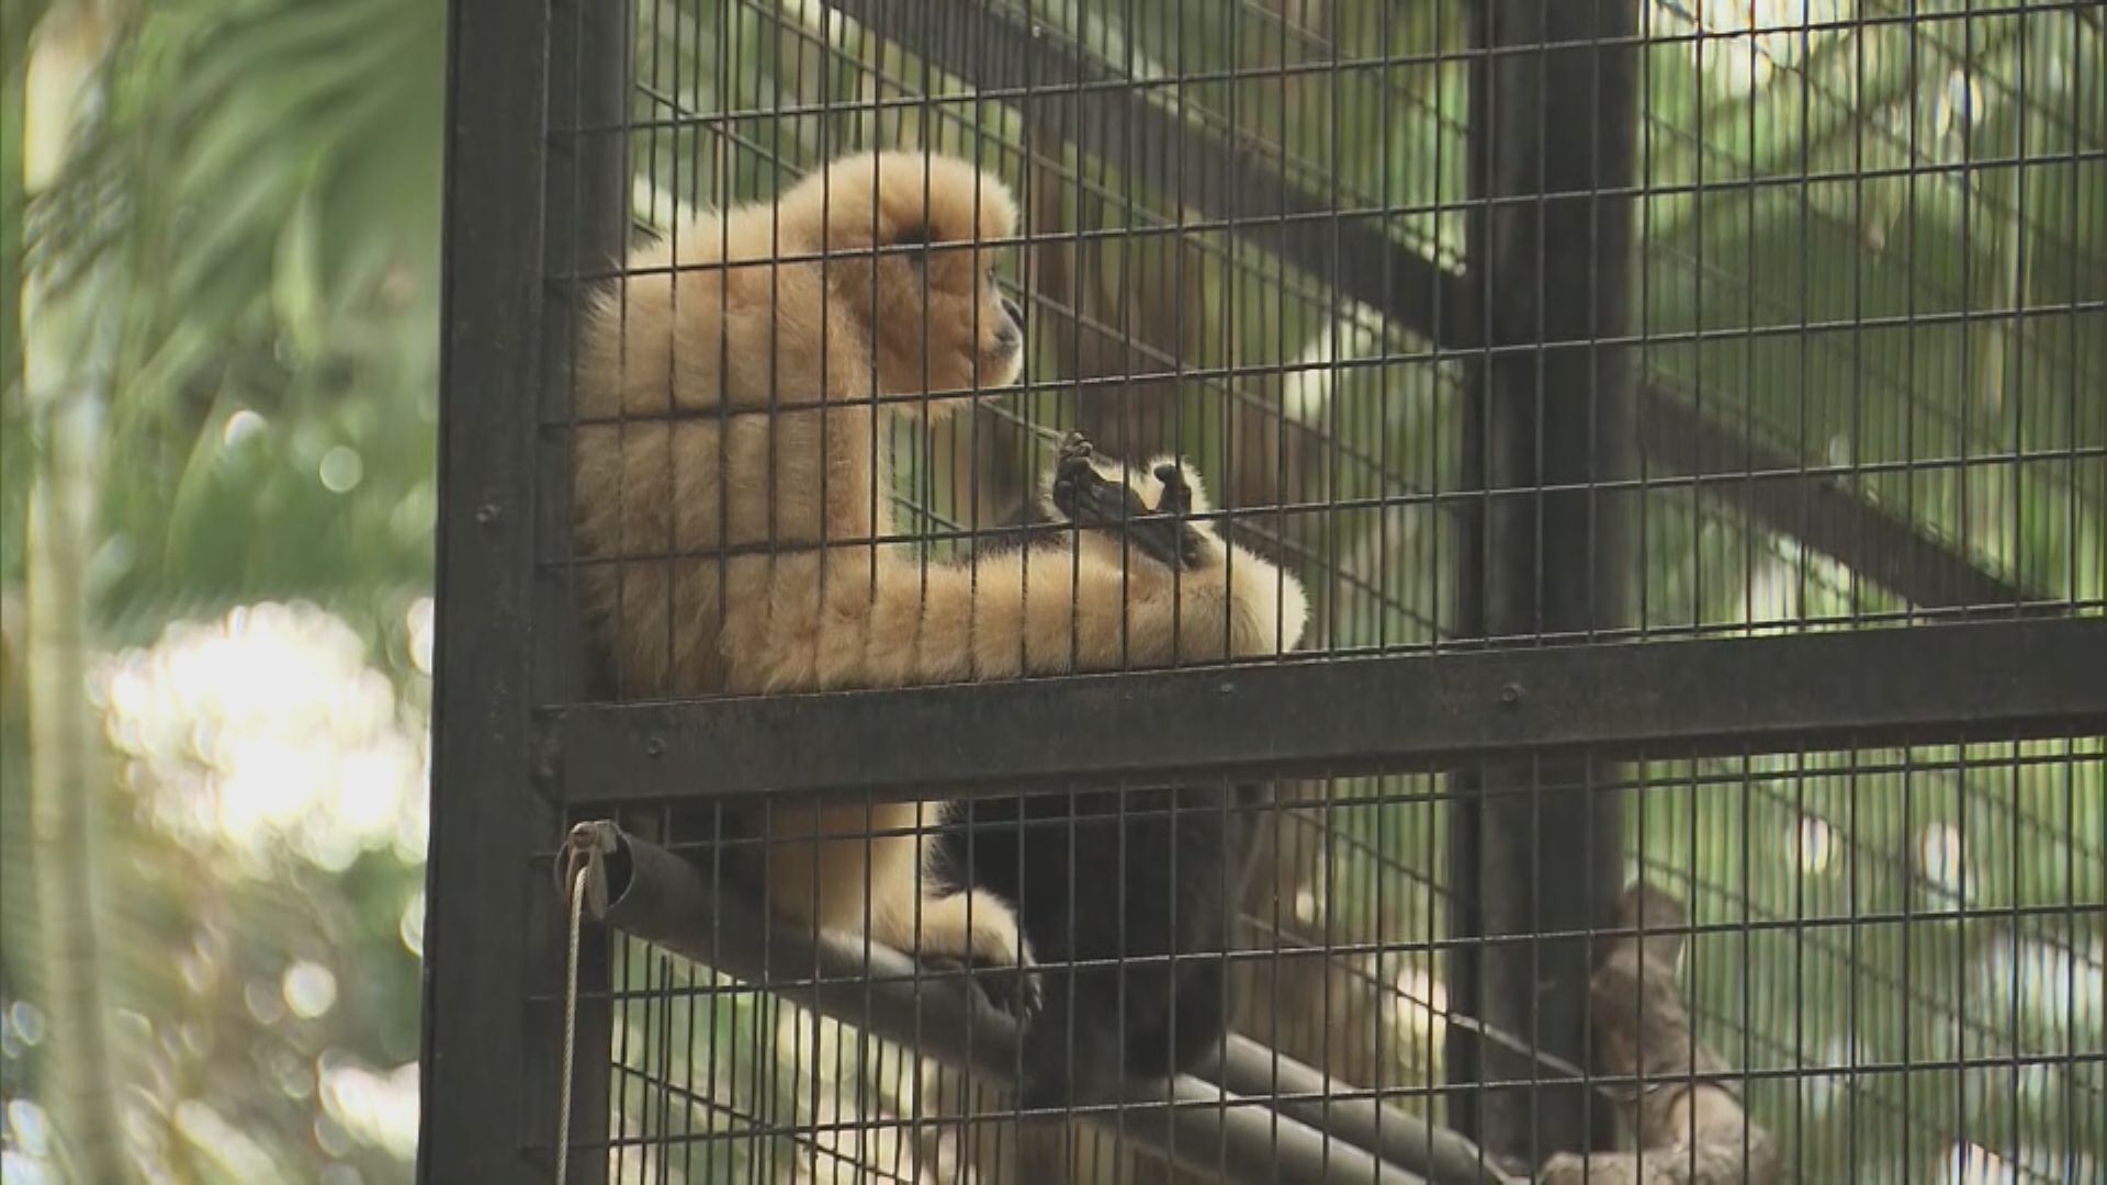
{"label": "entire front wire mesh, both above and below the horizontal beam", "polygon": [[[1580,8],[1624,23],[1603,34]],[[1117,643],[1083,637],[1087,531],[1054,523],[1068,542],[1032,550],[1043,491],[1072,472],[1056,453],[1066,432],[1129,464],[1176,453],[1205,479],[1214,506],[1176,529],[1235,544],[1228,580],[1247,565],[1277,626],[1239,643],[1222,620],[1193,639],[1197,658],[1174,656],[1216,668],[1875,626],[1938,645],[1932,626],[1951,620],[2107,607],[2096,6],[1603,0],[1553,17],[1523,0],[634,0],[615,53],[584,36],[586,11],[556,8],[550,27],[552,61],[567,61],[552,78],[571,89],[548,95],[548,143],[626,158],[632,253],[596,261],[584,217],[548,228],[569,238],[546,268],[554,299],[603,299],[598,333],[615,335],[611,352],[563,356],[565,399],[544,413],[539,477],[586,523],[544,521],[533,540],[563,605],[537,624],[571,630],[571,605],[588,605],[586,645],[541,673],[552,711],[1144,677],[1161,662],[1136,637],[1155,626],[1127,624],[1127,599],[1138,571],[1165,565],[1148,550],[1157,519],[1142,521],[1153,506],[1096,523],[1115,540],[1112,616],[1134,630]],[[1530,30],[1563,32],[1547,44]],[[619,112],[586,97],[609,70]],[[1620,89],[1631,129],[1601,122]],[[1557,188],[1612,169],[1618,145],[1629,177]],[[807,247],[784,194],[879,148],[904,152],[912,209],[895,217],[872,198],[839,215],[847,242],[828,221]],[[948,283],[938,156],[1016,198],[1016,226],[969,249],[963,274],[992,272],[990,291],[936,291]],[[841,177],[841,192],[868,181]],[[999,200],[965,205],[980,234]],[[721,213],[737,207],[761,213]],[[1568,234],[1572,211],[1584,242]],[[1629,257],[1606,230],[1627,215]],[[824,295],[805,310],[786,285]],[[965,346],[927,327],[940,297],[959,297]],[[655,318],[683,308],[700,329],[668,337]],[[1022,373],[976,392],[984,369],[1005,371],[986,342],[1011,308]],[[887,316],[919,327],[887,344],[872,329]],[[828,352],[828,333],[858,327],[868,358]],[[847,369],[805,367],[799,350],[813,348]],[[1612,356],[1629,373],[1597,369]],[[1589,375],[1584,392],[1547,388],[1572,373]],[[961,394],[980,399],[957,411]],[[1603,415],[1574,420],[1580,399]],[[773,428],[740,436],[737,415]],[[826,441],[815,460],[784,451],[799,415],[853,420],[799,436]],[[1595,426],[1631,439],[1593,439]],[[571,485],[563,470],[590,441],[600,477],[586,462]],[[744,523],[742,485],[767,491]],[[1032,584],[1020,552],[1047,557],[1056,578]],[[893,633],[872,624],[881,567],[917,590]],[[1178,597],[1193,578],[1165,567],[1184,652],[1180,614],[1197,609]],[[963,601],[921,607],[961,571]],[[1285,628],[1289,582],[1306,592],[1304,630]],[[990,626],[997,645],[959,633],[948,662],[925,662],[950,645],[929,639],[988,614],[976,597],[1016,597],[1005,611],[1026,620],[1035,597],[1054,599],[1060,637],[1041,647],[1026,626]],[[752,658],[754,639],[788,635]],[[893,635],[910,639],[902,654],[883,649]],[[830,658],[828,637],[849,637],[853,658]],[[693,719],[706,732],[710,717]],[[828,719],[824,704],[811,719]],[[1549,1153],[1587,1149],[1547,1132],[1599,1139],[1622,1115],[1629,1143],[1627,1111],[1662,1090],[1599,1065],[1587,1025],[1587,972],[1618,940],[1603,886],[1648,883],[1688,909],[1671,930],[1690,1037],[1776,1145],[1778,1172],[1751,1181],[2096,1181],[2107,725],[1949,732],[1911,746],[1658,744],[1635,761],[1471,751],[1296,778],[1224,734],[1249,776],[1193,774],[1190,797],[1165,799],[1161,782],[1020,768],[1018,784],[959,791],[995,812],[984,831],[961,824],[965,808],[917,814],[868,786],[828,810],[794,793],[710,797],[666,761],[619,814],[712,886],[769,886],[786,926],[828,913],[832,879],[862,881],[843,890],[849,913],[822,921],[881,938],[900,928],[877,917],[887,867],[957,875],[944,860],[961,843],[1009,843],[1032,865],[1045,846],[1028,833],[1066,833],[1054,850],[1068,892],[1098,892],[1039,907],[1066,943],[1047,924],[1032,934],[1028,894],[1007,894],[1041,947],[1041,983],[1077,966],[1207,968],[1226,1027],[1325,1075],[1323,1105],[1372,1101],[1378,1126],[1464,1130],[1483,1145],[1483,1181],[1553,1181]],[[1072,795],[1102,814],[1079,818]],[[815,827],[839,827],[836,846],[815,848]],[[1176,883],[1195,843],[1220,843],[1190,827],[1247,835],[1209,867],[1230,949],[1123,947],[1121,913],[1153,892],[1146,877]],[[1032,886],[1060,888],[1047,875]],[[687,951],[613,932],[584,985],[607,1071],[605,1099],[586,1103],[605,1111],[592,1120],[605,1139],[573,1141],[592,1174],[1216,1179],[1138,1139],[1153,1120],[1125,1101],[1024,1115],[999,1073],[801,1008],[788,978],[712,970],[691,957],[716,949],[710,924],[695,919]],[[1110,945],[1102,966],[1077,953],[1091,943]],[[925,959],[914,987],[965,978],[1016,1006],[1001,974]],[[1131,1033],[1123,1002],[1066,1023]],[[1180,1069],[1201,1073],[1222,1113],[1287,1124],[1285,1088],[1222,1086],[1226,1056]],[[1698,1073],[1694,1058],[1675,1069],[1683,1086]],[[1521,1137],[1494,1107],[1528,1115]],[[1553,1111],[1568,1126],[1542,1120]],[[1694,1172],[1696,1149],[1679,1155]]]}

